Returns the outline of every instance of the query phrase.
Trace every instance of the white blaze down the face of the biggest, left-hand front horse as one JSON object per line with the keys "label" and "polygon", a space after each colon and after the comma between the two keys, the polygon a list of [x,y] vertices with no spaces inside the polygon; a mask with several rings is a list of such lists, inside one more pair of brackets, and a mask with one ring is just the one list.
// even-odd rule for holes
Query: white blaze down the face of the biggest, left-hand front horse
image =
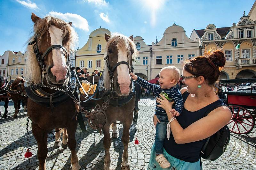
{"label": "white blaze down the face of the biggest, left-hand front horse", "polygon": [[[56,26],[50,26],[48,31],[51,37],[51,44],[62,46],[62,30]],[[56,82],[65,79],[68,72],[68,66],[65,61],[65,52],[62,48],[52,48],[52,61],[53,67],[51,68],[51,71],[52,74],[56,76]]]}

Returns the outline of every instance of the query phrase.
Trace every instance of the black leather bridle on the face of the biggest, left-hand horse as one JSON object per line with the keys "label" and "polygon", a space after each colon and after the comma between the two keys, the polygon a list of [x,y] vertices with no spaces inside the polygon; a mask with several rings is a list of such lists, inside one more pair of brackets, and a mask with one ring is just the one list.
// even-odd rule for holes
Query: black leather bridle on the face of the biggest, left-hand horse
{"label": "black leather bridle on the face of the biggest, left-hand horse", "polygon": [[44,51],[44,54],[43,54],[43,55],[41,55],[41,54],[40,54],[40,51],[39,51],[39,48],[38,48],[37,37],[38,37],[38,35],[35,35],[35,39],[34,39],[33,41],[29,42],[28,45],[33,45],[33,44],[35,44],[34,47],[33,47],[34,53],[36,54],[36,60],[37,60],[37,62],[39,63],[39,66],[40,66],[42,69],[46,67],[46,65],[45,65],[45,63],[44,63],[44,57],[45,57],[45,56],[50,52],[50,50],[52,50],[53,48],[62,48],[62,49],[65,51],[66,57],[67,57],[67,58],[66,58],[66,59],[67,59],[66,64],[67,64],[67,66],[69,66],[69,62],[70,62],[70,60],[69,60],[69,54],[68,54],[68,52],[67,52],[67,50],[66,50],[65,47],[63,47],[63,46],[61,46],[61,45],[52,45],[52,46],[48,47],[48,48]]}

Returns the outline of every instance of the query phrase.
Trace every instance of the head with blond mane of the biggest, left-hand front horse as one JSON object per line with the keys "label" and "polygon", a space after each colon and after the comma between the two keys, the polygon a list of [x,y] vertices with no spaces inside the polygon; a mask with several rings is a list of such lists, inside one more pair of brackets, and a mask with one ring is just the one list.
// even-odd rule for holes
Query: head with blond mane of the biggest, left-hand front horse
{"label": "head with blond mane of the biggest, left-hand front horse", "polygon": [[[49,85],[63,85],[69,78],[69,55],[75,51],[77,34],[71,26],[59,18],[31,15],[34,35],[28,46],[28,77],[33,83],[41,82],[41,75]],[[34,46],[33,46],[34,44]]]}

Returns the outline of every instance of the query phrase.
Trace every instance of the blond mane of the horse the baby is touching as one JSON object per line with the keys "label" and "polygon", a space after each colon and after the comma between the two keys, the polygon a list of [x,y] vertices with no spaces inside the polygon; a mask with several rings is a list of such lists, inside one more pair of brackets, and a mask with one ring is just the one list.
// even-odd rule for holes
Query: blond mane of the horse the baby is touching
{"label": "blond mane of the horse the baby is touching", "polygon": [[[129,61],[137,57],[136,46],[130,38],[120,33],[111,33],[111,37],[109,38],[105,48],[106,51],[104,53],[104,58],[108,55],[108,47],[111,46],[113,43],[117,44],[118,49],[121,49],[124,52],[126,52],[128,57],[128,63]],[[133,55],[131,55],[131,49],[133,50]],[[102,76],[103,76],[102,79],[103,79],[104,87],[107,89],[110,89],[110,76],[108,73],[108,66],[106,61],[105,61],[105,67],[104,67],[104,72]]]}

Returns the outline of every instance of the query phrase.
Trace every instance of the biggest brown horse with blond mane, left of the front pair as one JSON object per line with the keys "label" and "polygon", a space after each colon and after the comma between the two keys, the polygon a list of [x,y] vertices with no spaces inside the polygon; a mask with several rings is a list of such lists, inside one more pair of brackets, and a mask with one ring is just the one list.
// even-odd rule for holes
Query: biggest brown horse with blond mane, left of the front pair
{"label": "biggest brown horse with blond mane, left of the front pair", "polygon": [[[59,18],[31,15],[34,32],[27,47],[27,111],[36,139],[39,170],[45,170],[47,134],[64,128],[61,146],[71,151],[72,170],[80,169],[76,155],[78,103],[65,92],[70,80],[69,55],[75,52],[78,36],[72,23]],[[59,145],[60,131],[55,144]],[[54,147],[55,147],[54,144]]]}

